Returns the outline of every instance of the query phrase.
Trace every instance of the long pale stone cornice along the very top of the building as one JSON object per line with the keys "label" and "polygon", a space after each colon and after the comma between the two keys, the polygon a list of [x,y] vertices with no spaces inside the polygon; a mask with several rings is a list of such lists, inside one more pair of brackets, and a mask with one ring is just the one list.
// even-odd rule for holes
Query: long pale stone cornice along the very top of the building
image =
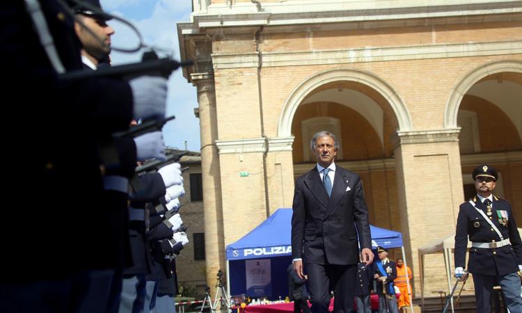
{"label": "long pale stone cornice along the very top of the building", "polygon": [[[376,3],[378,5],[376,5]],[[429,4],[427,4],[429,3]],[[522,1],[495,0],[381,0],[381,1],[277,1],[212,3],[191,14],[194,28],[310,25],[341,22],[374,22],[400,19],[458,18],[522,13]]]}

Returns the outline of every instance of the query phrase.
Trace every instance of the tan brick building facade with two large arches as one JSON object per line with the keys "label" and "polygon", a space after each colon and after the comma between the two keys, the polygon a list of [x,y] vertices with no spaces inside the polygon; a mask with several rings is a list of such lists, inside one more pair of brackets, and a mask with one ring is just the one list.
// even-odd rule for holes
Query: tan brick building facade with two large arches
{"label": "tan brick building facade with two large arches", "polygon": [[[292,206],[322,129],[370,222],[402,232],[417,292],[417,249],[454,232],[478,163],[522,225],[520,1],[193,0],[177,32],[195,61],[210,283],[228,243]],[[447,286],[441,263],[427,257],[427,291]]]}

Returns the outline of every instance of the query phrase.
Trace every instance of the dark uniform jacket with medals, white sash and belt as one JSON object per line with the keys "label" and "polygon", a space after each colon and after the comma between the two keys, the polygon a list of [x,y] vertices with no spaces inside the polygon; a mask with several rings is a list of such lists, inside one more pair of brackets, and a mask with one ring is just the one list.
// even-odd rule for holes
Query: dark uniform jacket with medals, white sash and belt
{"label": "dark uniform jacket with medals, white sash and belt", "polygon": [[[477,196],[472,202],[478,209],[487,212]],[[511,245],[500,248],[470,248],[468,271],[482,275],[507,275],[519,271],[522,264],[522,241],[519,230],[516,228],[512,207],[506,200],[493,196],[491,222],[498,228],[504,239],[509,239]],[[500,216],[505,211],[506,225],[500,223]],[[455,267],[466,267],[466,247],[469,240],[478,243],[500,241],[500,237],[469,202],[464,202],[459,208],[457,218],[457,232],[455,233],[454,261]]]}

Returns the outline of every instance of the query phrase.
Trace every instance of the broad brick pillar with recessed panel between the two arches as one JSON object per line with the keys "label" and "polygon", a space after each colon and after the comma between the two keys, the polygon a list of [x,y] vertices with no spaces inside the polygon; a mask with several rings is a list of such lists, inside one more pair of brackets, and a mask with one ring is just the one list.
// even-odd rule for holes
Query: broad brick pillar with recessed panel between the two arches
{"label": "broad brick pillar with recessed panel between the two arches", "polygon": [[[398,131],[395,137],[397,193],[413,287],[420,295],[418,248],[454,234],[464,202],[459,152],[460,129]],[[425,257],[425,286],[448,289],[439,254]],[[425,296],[433,296],[425,291]]]}

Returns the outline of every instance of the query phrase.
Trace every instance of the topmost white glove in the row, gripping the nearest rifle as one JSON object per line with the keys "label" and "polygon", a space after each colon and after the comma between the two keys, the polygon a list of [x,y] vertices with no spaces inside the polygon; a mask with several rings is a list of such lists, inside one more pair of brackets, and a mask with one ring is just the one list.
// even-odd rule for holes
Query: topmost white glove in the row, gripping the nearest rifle
{"label": "topmost white glove in the row, gripping the nearest rifle", "polygon": [[134,118],[164,118],[167,80],[164,77],[141,76],[129,81],[134,99]]}

